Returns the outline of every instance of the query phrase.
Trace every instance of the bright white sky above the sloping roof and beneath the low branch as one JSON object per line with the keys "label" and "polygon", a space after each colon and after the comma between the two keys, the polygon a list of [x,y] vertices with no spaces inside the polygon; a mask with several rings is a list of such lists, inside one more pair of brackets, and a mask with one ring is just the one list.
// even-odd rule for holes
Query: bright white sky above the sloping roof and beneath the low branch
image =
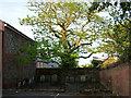
{"label": "bright white sky above the sloping roof and beneath the low branch", "polygon": [[[22,26],[20,25],[19,17],[24,19],[27,14],[32,14],[32,12],[27,9],[28,0],[0,0],[0,20],[9,23],[29,38],[33,37],[33,33],[31,30],[31,26]],[[103,15],[103,14],[102,14]],[[104,14],[105,15],[105,14]],[[80,59],[79,64],[90,63],[93,57],[102,57],[103,54],[96,53],[93,54],[90,59]]]}

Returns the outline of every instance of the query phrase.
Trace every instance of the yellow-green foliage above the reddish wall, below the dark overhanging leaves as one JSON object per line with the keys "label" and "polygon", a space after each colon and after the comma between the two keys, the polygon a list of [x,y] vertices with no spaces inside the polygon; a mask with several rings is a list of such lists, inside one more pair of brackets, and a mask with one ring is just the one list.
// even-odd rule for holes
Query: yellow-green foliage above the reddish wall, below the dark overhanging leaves
{"label": "yellow-green foliage above the reddish wall, below the dark overhanging leaves", "polygon": [[[131,27],[131,23],[128,21],[124,22],[124,26]],[[103,49],[109,56],[118,57],[123,61],[127,61],[130,54],[130,30],[120,24],[111,26],[111,32],[106,32],[102,35],[103,38],[106,38],[100,44],[100,49]]]}

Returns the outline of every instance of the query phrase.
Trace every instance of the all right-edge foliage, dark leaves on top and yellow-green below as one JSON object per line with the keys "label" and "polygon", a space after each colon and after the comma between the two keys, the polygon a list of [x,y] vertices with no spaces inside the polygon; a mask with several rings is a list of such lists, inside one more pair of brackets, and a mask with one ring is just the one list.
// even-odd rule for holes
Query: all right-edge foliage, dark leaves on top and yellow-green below
{"label": "all right-edge foliage, dark leaves on top and yellow-green below", "polygon": [[118,57],[122,61],[131,58],[131,2],[104,3],[109,7],[108,12],[112,19],[107,21],[105,32],[100,34],[99,49],[109,56]]}

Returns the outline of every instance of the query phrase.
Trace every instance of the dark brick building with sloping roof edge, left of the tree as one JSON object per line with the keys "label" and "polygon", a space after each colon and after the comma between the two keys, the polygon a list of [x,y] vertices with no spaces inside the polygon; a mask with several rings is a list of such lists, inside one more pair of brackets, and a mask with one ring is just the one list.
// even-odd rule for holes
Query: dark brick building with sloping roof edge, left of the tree
{"label": "dark brick building with sloping roof edge, left of the tree", "polygon": [[24,54],[16,56],[17,49],[25,42],[32,47],[34,40],[19,32],[10,24],[0,21],[0,72],[2,88],[16,87],[32,82],[35,75],[35,62],[17,64],[15,61]]}

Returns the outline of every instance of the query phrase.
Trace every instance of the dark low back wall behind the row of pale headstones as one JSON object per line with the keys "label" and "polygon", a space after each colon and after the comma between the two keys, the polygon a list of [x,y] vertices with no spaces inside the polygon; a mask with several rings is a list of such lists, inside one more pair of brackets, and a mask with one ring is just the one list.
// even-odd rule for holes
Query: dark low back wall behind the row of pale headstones
{"label": "dark low back wall behind the row of pale headstones", "polygon": [[[36,69],[36,81],[40,82],[53,82],[53,78],[58,77],[60,82],[61,74],[64,74],[64,82],[75,83],[75,82],[97,82],[99,81],[98,70],[95,69],[68,69],[63,71],[61,69]],[[47,79],[48,78],[48,79]]]}

